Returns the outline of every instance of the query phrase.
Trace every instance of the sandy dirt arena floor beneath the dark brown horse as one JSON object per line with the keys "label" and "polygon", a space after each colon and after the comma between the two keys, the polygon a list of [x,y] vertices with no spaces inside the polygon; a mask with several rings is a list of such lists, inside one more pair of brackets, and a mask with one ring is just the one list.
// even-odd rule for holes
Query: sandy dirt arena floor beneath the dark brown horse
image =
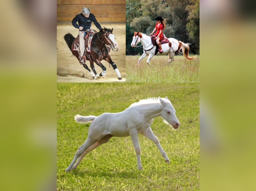
{"label": "sandy dirt arena floor beneath the dark brown horse", "polygon": [[[107,68],[106,75],[94,80],[89,71],[80,65],[77,58],[72,55],[63,38],[67,33],[77,37],[79,30],[73,27],[72,24],[61,24],[57,25],[57,82],[125,82],[125,24],[101,23],[101,26],[102,28],[114,28],[113,34],[119,50],[117,52],[111,50],[110,56],[113,62],[116,63],[122,80],[117,79],[116,72],[111,65],[109,68],[109,63],[105,60],[102,60],[102,64]],[[92,29],[99,31],[93,25]],[[90,62],[86,61],[86,64],[90,68]],[[102,72],[102,69],[97,64],[95,64],[95,70],[98,75]]]}

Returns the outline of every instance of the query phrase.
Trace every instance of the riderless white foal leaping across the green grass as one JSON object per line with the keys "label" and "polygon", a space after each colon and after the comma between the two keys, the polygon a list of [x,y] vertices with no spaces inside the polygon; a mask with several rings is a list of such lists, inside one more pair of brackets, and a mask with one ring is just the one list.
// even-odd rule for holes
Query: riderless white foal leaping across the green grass
{"label": "riderless white foal leaping across the green grass", "polygon": [[[175,115],[175,109],[167,97],[142,99],[139,102],[131,104],[130,107],[119,113],[103,113],[99,116],[76,115],[75,120],[77,122],[92,123],[89,126],[87,140],[78,148],[66,172],[76,169],[88,152],[108,142],[111,137],[124,137],[129,135],[131,136],[137,155],[137,168],[142,170],[138,133],[152,140],[160,150],[165,162],[170,164],[170,160],[161,147],[158,138],[150,128],[153,118],[157,116],[163,117],[174,129],[177,129],[180,125]],[[75,164],[77,159],[78,161]]]}

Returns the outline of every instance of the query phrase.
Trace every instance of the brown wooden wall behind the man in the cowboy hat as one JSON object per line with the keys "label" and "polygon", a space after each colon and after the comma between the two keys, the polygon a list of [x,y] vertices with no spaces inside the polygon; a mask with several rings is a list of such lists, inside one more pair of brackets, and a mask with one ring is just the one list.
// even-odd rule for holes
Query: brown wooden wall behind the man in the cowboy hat
{"label": "brown wooden wall behind the man in the cowboy hat", "polygon": [[125,23],[125,0],[57,0],[57,22],[71,23],[83,7],[89,7],[99,23]]}

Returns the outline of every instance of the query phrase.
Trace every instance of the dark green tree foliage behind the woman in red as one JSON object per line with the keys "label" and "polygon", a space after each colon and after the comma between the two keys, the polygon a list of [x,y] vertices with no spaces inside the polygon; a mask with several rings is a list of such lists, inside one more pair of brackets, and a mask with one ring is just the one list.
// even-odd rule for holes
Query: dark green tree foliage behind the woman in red
{"label": "dark green tree foliage behind the woman in red", "polygon": [[134,31],[149,35],[158,16],[165,20],[164,34],[191,43],[190,53],[199,55],[199,0],[126,0],[126,55],[142,54],[130,46]]}

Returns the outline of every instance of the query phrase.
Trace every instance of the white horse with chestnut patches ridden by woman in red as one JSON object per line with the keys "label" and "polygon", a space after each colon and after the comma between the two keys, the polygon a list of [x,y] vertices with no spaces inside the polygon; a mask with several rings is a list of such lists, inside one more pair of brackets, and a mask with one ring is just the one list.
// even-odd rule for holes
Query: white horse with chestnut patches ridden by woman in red
{"label": "white horse with chestnut patches ridden by woman in red", "polygon": [[[177,51],[180,51],[180,50],[182,50],[183,56],[186,59],[192,60],[192,59],[196,58],[196,56],[194,56],[194,57],[189,57],[188,56],[189,45],[190,45],[189,43],[185,44],[185,43],[183,43],[181,41],[178,41],[174,38],[168,38],[168,40],[170,41],[171,44],[170,45],[169,45],[169,43],[162,44],[163,52],[161,54],[159,52],[157,52],[157,55],[166,55],[166,54],[168,54],[168,62],[166,62],[165,64],[171,63],[174,60],[173,57],[174,57],[175,53]],[[134,31],[134,36],[133,36],[133,39],[132,39],[131,47],[136,47],[136,45],[138,43],[141,43],[142,46],[143,46],[143,54],[139,58],[138,65],[140,64],[140,61],[143,58],[148,56],[147,64],[152,66],[151,64],[149,64],[149,61],[155,55],[156,46],[154,46],[152,44],[151,37],[147,36],[143,33],[140,33],[139,31],[138,32]]]}

